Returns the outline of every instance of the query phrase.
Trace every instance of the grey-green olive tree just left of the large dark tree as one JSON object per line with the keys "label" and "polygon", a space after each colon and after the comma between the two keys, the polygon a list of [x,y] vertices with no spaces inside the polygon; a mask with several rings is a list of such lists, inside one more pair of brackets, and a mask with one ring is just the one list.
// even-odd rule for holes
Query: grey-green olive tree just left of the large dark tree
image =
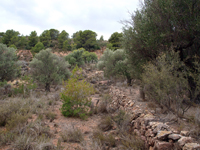
{"label": "grey-green olive tree just left of the large dark tree", "polygon": [[97,67],[98,69],[104,70],[104,75],[107,77],[125,77],[127,79],[127,84],[131,85],[131,68],[129,67],[127,56],[123,49],[117,49],[116,51],[106,49]]}

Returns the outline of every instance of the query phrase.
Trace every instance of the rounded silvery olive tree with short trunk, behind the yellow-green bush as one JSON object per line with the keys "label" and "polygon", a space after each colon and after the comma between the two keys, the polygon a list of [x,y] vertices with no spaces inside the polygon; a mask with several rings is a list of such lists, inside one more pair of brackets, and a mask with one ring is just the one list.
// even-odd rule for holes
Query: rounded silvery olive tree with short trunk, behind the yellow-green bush
{"label": "rounded silvery olive tree with short trunk, behind the yellow-green bush", "polygon": [[68,62],[53,54],[51,49],[41,50],[30,62],[33,79],[45,85],[48,92],[51,84],[61,83],[62,79],[70,77],[68,66]]}

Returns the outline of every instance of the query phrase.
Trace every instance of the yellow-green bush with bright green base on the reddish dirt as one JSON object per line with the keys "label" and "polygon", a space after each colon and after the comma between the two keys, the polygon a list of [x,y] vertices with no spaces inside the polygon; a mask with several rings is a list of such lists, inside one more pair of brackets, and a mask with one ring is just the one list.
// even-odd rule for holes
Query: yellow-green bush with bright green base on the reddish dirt
{"label": "yellow-green bush with bright green base on the reddish dirt", "polygon": [[77,66],[72,71],[72,76],[64,82],[64,91],[61,92],[63,105],[61,112],[64,116],[85,118],[88,114],[91,98],[94,93],[94,88],[81,79],[81,69]]}

